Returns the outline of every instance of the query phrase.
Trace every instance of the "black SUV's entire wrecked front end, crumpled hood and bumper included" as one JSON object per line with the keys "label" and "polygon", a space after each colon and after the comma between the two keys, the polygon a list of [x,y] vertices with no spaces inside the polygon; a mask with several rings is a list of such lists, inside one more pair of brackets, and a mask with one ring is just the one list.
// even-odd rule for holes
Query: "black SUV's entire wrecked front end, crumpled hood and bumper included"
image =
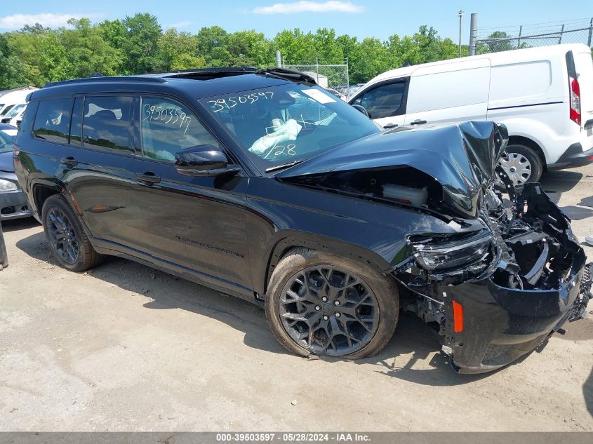
{"label": "black SUV's entire wrecked front end, crumpled hood and bumper included", "polygon": [[[284,182],[401,208],[385,270],[400,305],[439,332],[455,371],[507,365],[585,314],[591,264],[540,187],[498,166],[508,134],[492,122],[394,130],[289,168]],[[500,192],[505,190],[505,194]]]}

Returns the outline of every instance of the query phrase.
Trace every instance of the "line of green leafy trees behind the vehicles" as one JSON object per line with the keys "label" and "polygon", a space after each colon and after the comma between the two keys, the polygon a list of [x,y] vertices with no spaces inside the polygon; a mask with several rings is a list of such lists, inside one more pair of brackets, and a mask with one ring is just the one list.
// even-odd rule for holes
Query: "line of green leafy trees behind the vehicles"
{"label": "line of green leafy trees behind the vehicles", "polygon": [[[203,27],[197,34],[164,30],[154,15],[137,13],[121,20],[93,23],[71,19],[69,27],[39,24],[0,34],[0,90],[43,86],[50,81],[175,71],[201,67],[275,65],[275,51],[290,64],[342,64],[349,61],[351,83],[366,82],[388,69],[458,56],[458,46],[437,30],[422,25],[411,36],[337,36],[334,29],[317,32],[285,29],[272,39],[254,29],[227,32]],[[467,55],[467,46],[462,55]]]}

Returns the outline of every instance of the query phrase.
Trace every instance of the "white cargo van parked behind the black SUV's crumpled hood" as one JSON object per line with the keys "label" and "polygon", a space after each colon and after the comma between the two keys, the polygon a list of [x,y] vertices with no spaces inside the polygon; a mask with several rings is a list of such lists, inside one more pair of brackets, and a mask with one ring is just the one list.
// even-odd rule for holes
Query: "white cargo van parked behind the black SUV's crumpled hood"
{"label": "white cargo van parked behind the black SUV's crumpled hood", "polygon": [[492,120],[509,130],[515,184],[593,161],[593,61],[582,44],[475,55],[376,76],[349,103],[392,128]]}

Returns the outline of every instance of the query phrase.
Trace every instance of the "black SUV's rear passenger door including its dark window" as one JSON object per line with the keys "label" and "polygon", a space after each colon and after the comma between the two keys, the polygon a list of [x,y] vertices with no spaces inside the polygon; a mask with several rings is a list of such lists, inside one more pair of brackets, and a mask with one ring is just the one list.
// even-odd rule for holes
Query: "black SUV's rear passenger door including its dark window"
{"label": "black SUV's rear passenger door including its dark window", "polygon": [[135,242],[131,168],[136,147],[140,152],[133,124],[137,104],[132,95],[76,97],[57,172],[91,234],[116,250]]}

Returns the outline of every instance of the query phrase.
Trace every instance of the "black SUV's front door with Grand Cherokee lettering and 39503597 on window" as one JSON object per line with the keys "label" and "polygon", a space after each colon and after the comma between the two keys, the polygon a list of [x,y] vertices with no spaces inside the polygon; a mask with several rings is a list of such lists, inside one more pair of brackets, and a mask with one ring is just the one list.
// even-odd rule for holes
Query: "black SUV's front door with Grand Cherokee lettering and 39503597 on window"
{"label": "black SUV's front door with Grand Cherokee lettering and 39503597 on window", "polygon": [[142,157],[135,159],[137,248],[197,271],[206,281],[253,288],[246,234],[248,177],[195,177],[173,164],[180,149],[220,147],[189,107],[143,96]]}

